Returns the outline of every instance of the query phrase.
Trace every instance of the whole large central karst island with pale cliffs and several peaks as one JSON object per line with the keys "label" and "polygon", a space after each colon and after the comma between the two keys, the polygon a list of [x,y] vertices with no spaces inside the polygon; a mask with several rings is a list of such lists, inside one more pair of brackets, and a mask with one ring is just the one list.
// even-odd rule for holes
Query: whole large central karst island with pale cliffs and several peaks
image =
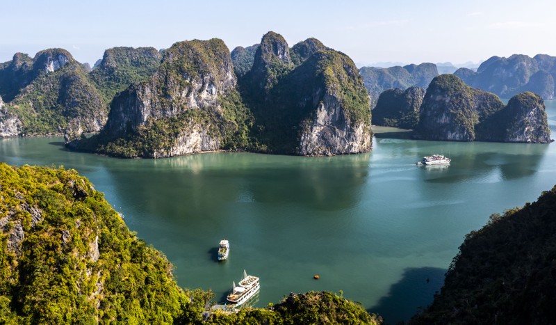
{"label": "whole large central karst island with pale cliffs and several peaks", "polygon": [[152,77],[113,99],[97,136],[67,132],[70,148],[152,158],[220,149],[307,156],[370,150],[369,96],[349,57],[316,39],[290,49],[274,32],[253,50],[249,70],[247,50],[232,51],[243,64],[234,72],[222,40],[172,45]]}

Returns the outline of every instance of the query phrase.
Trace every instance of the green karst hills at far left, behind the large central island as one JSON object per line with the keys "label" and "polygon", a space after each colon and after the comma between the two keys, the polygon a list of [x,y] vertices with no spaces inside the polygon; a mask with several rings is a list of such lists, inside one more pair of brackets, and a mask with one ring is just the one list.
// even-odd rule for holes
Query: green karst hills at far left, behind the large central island
{"label": "green karst hills at far left, behind the large central island", "polygon": [[17,53],[0,63],[0,135],[99,132],[115,93],[152,74],[160,58],[153,48],[117,47],[89,71],[65,49]]}

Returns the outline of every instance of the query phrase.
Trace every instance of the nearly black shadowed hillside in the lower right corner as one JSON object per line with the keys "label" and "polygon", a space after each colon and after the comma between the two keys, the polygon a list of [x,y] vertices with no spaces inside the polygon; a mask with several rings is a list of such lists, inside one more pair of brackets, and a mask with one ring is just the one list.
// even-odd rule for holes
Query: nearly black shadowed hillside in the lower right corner
{"label": "nearly black shadowed hillside in the lower right corner", "polygon": [[466,235],[434,302],[411,324],[552,324],[556,187]]}

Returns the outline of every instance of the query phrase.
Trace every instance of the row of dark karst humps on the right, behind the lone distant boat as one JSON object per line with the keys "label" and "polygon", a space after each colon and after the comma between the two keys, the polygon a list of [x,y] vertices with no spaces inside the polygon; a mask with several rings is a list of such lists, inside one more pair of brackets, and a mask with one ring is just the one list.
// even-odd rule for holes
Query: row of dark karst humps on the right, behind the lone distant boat
{"label": "row of dark karst humps on the right, behind the lone distant boat", "polygon": [[414,138],[439,141],[550,143],[544,102],[525,92],[505,105],[454,74],[422,88],[386,90],[373,110],[377,125],[414,129]]}

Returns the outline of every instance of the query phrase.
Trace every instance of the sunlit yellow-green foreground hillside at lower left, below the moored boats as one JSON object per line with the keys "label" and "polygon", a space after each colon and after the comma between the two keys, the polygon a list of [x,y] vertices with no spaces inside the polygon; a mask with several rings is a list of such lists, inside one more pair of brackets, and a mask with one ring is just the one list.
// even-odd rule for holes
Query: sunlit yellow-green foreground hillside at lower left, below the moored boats
{"label": "sunlit yellow-green foreground hillside at lower left, below the moored boats", "polygon": [[[381,324],[329,292],[272,308],[203,312],[165,256],[138,239],[74,170],[0,163],[1,324]],[[205,317],[206,318],[206,317]]]}

